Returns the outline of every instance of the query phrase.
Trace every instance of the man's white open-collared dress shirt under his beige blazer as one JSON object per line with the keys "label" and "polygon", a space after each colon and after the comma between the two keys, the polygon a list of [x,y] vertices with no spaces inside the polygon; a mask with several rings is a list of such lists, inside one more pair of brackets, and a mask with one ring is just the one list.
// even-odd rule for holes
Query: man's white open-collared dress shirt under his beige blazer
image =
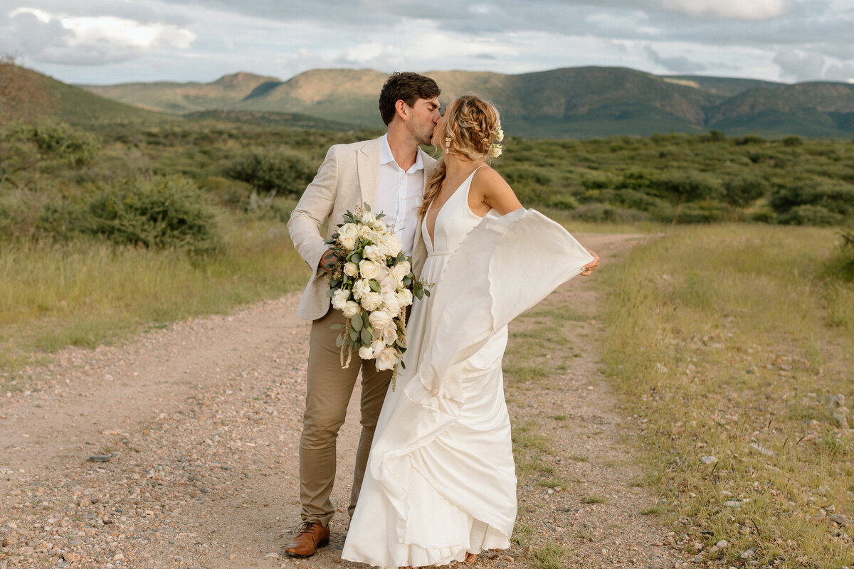
{"label": "man's white open-collared dress shirt under his beige blazer", "polygon": [[403,249],[412,255],[415,229],[418,227],[418,207],[424,198],[424,163],[421,153],[415,154],[415,164],[403,171],[395,162],[389,147],[389,135],[384,134],[380,145],[379,185],[374,212],[383,212],[383,221],[395,228]]}

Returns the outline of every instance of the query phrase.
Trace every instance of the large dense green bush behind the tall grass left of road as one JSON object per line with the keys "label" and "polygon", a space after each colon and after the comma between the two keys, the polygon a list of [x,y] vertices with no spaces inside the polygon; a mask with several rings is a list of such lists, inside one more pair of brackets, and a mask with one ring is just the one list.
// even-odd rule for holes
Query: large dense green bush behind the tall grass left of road
{"label": "large dense green bush behind the tall grass left of road", "polygon": [[205,195],[184,177],[118,183],[91,198],[82,223],[85,232],[120,244],[195,254],[221,248]]}

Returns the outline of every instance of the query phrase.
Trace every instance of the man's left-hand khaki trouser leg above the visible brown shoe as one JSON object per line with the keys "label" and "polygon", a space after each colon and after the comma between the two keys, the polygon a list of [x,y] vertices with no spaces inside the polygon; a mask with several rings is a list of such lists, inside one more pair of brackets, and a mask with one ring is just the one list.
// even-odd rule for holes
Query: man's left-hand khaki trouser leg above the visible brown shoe
{"label": "man's left-hand khaki trouser leg above the visible brown shoe", "polygon": [[340,330],[332,324],[346,322],[341,311],[330,310],[312,324],[308,350],[306,412],[300,439],[300,500],[303,521],[328,525],[335,508],[330,501],[335,482],[336,438],[347,416],[361,360],[354,353],[347,369],[341,368],[335,345]]}

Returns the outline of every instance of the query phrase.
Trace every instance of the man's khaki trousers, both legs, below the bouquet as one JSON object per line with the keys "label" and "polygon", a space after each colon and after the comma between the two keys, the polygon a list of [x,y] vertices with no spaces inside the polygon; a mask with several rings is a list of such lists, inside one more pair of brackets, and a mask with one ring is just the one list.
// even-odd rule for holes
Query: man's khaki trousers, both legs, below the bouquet
{"label": "man's khaki trousers, both legs, below the bouquet", "polygon": [[363,361],[355,351],[349,367],[341,368],[341,349],[335,345],[341,330],[332,330],[330,327],[345,322],[347,319],[341,311],[330,308],[326,316],[312,323],[308,349],[306,412],[300,439],[301,517],[303,521],[319,521],[323,525],[328,525],[332,514],[335,514],[330,494],[335,482],[336,438],[347,415],[356,377],[361,369],[362,434],[356,452],[353,491],[348,507],[351,517],[359,499],[371,440],[391,380],[390,371],[378,372],[373,360]]}

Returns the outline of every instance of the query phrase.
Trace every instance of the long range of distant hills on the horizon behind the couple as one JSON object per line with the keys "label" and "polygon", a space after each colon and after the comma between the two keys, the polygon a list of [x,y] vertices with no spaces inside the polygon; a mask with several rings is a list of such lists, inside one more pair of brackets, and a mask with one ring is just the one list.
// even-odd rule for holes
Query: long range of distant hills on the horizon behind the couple
{"label": "long range of distant hills on the horizon behind the couple", "polygon": [[[428,74],[442,86],[443,103],[476,92],[500,107],[507,132],[522,136],[648,136],[710,129],[732,135],[854,136],[850,84],[657,76],[623,67],[570,67],[519,75]],[[287,81],[235,73],[208,84],[83,87],[171,113],[292,113],[377,128],[383,126],[377,95],[387,77],[372,69],[314,69]]]}

